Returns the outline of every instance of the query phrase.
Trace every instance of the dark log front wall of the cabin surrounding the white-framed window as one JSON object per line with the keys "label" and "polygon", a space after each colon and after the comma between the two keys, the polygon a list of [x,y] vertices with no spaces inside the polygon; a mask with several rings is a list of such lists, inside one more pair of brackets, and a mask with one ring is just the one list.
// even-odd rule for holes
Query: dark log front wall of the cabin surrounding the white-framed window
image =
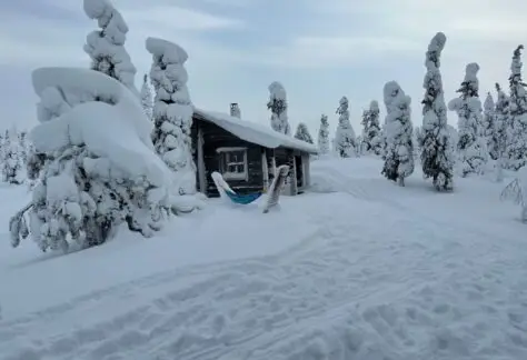
{"label": "dark log front wall of the cabin surrounding the white-framed window", "polygon": [[[240,120],[241,121],[241,120]],[[250,193],[264,190],[264,168],[262,168],[262,147],[241,140],[230,132],[217,127],[213,123],[195,120],[203,139],[203,164],[205,164],[205,182],[206,193],[208,197],[218,197],[218,190],[212,181],[211,173],[219,171],[220,157],[216,151],[218,148],[247,148],[247,180],[226,180],[229,186],[239,193]],[[197,137],[197,136],[196,136]],[[193,143],[193,141],[192,141]],[[199,179],[199,176],[198,176]]]}

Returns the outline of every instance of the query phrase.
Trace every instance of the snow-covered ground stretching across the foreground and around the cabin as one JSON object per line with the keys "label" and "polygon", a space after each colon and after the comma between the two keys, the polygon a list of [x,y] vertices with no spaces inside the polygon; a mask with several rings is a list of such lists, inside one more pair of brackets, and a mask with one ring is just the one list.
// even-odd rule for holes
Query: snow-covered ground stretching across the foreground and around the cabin
{"label": "snow-covered ground stretching across the foreground and around the cabin", "polygon": [[[212,200],[66,257],[1,234],[0,359],[527,359],[527,226],[503,186],[380,168],[317,161],[330,193],[269,214]],[[6,222],[27,194],[0,197]]]}

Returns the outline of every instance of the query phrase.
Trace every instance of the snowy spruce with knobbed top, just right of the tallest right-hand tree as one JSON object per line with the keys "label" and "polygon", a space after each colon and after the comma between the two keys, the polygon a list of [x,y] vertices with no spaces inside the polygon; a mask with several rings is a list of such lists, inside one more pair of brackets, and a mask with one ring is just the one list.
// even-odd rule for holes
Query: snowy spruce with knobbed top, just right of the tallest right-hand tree
{"label": "snowy spruce with knobbed top, just right of the tallest right-hand tree", "polygon": [[483,116],[478,93],[478,71],[479,66],[476,62],[467,64],[465,80],[457,90],[460,96],[448,103],[448,108],[458,114],[457,150],[461,177],[469,173],[484,173],[488,162],[486,139],[481,137]]}

